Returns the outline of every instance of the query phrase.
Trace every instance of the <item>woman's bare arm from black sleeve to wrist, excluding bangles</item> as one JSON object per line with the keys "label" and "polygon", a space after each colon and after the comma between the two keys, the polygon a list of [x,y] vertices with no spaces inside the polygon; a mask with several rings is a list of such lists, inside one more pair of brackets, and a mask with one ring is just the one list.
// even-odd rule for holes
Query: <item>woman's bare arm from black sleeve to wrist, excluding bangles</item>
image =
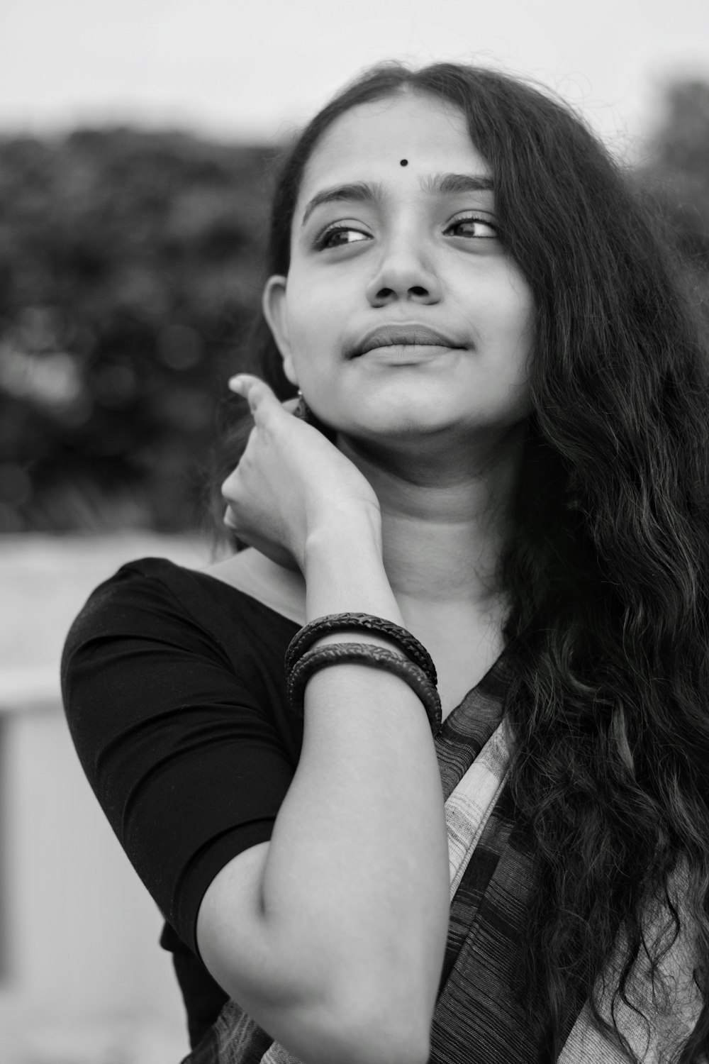
{"label": "woman's bare arm from black sleeve to wrist, excluding bangles", "polygon": [[[304,573],[307,620],[361,611],[403,622],[378,529],[359,515],[308,536]],[[270,844],[230,862],[204,897],[203,960],[305,1064],[418,1064],[448,917],[443,795],[421,702],[382,670],[323,669],[306,687],[301,759]]]}

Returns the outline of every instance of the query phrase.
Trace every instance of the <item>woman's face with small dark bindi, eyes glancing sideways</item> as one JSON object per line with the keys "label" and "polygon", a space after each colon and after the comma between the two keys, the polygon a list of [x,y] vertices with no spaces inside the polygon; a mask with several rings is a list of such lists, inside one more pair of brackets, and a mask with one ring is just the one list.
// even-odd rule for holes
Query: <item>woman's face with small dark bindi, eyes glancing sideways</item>
{"label": "woman's face with small dark bindi, eyes glancing sideways", "polygon": [[359,105],[323,134],[264,311],[288,379],[336,430],[472,438],[528,415],[534,307],[492,178],[462,113],[426,95]]}

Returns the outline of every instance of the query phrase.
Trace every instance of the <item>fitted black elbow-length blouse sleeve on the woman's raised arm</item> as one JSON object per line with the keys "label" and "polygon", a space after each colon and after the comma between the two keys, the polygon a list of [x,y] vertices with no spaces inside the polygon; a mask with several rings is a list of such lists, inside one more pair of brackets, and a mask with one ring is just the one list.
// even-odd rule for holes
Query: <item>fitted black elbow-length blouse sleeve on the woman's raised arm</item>
{"label": "fitted black elbow-length blouse sleeve on the woman's raised arm", "polygon": [[133,563],[94,592],[62,660],[65,712],[87,779],[197,955],[204,892],[232,858],[270,839],[296,767],[283,724],[285,648],[276,639],[269,654],[238,610],[206,613],[205,624]]}

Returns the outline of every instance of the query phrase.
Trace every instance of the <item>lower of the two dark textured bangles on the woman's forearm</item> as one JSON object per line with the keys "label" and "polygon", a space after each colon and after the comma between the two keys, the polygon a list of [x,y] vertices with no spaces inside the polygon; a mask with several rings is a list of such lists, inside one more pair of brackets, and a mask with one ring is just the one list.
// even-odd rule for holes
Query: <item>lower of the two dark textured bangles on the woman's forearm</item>
{"label": "lower of the two dark textured bangles on the woman's forearm", "polygon": [[303,716],[305,684],[316,670],[351,662],[383,668],[405,680],[423,702],[434,737],[438,734],[442,711],[436,686],[418,665],[385,647],[374,647],[370,643],[335,643],[316,647],[303,654],[288,675],[288,701],[293,713],[299,717]]}

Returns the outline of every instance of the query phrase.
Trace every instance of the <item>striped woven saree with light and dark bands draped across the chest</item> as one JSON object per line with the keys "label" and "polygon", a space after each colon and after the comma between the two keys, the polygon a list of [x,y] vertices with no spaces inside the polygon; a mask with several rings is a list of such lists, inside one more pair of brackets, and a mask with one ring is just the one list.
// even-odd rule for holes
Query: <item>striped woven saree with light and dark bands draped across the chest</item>
{"label": "striped woven saree with light and dark bands draped across the chest", "polygon": [[[506,788],[509,746],[503,721],[505,653],[443,721],[436,753],[443,783],[451,871],[451,915],[443,970],[431,1031],[429,1064],[551,1064],[535,1043],[526,1012],[511,993],[533,887],[528,839],[516,824]],[[658,1009],[639,979],[638,1000],[656,1023],[624,1007],[617,1018],[644,1064],[668,1064],[702,1008],[678,940],[663,964],[676,994]],[[530,988],[530,993],[534,990]],[[622,1064],[626,1058],[592,1026],[588,1005],[572,1003],[558,1064]],[[299,1064],[235,1001],[182,1064]],[[333,1062],[337,1064],[337,1062]]]}

